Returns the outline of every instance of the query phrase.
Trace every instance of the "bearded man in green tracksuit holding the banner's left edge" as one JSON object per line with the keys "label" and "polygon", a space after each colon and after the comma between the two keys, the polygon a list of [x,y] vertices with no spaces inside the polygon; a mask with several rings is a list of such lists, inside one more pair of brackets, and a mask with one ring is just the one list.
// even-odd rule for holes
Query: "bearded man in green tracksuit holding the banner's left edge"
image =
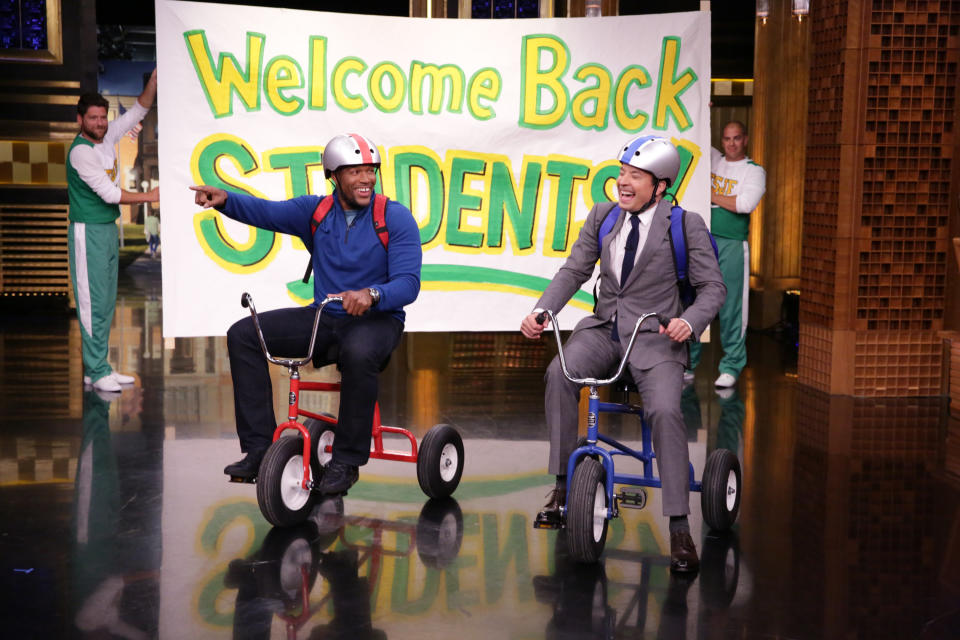
{"label": "bearded man in green tracksuit holding the banner's left edge", "polygon": [[120,391],[121,385],[134,381],[107,363],[117,301],[117,218],[119,205],[157,202],[160,192],[120,188],[116,144],[147,115],[156,95],[154,70],[136,104],[113,122],[107,122],[109,104],[100,94],[86,93],[77,102],[80,133],[67,155],[70,276],[80,319],[84,383],[100,391]]}

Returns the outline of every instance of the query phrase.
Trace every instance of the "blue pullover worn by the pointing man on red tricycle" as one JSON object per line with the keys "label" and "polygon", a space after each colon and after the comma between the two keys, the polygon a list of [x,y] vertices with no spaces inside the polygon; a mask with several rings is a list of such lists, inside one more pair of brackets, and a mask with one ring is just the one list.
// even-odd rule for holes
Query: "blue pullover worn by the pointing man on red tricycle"
{"label": "blue pullover worn by the pointing man on red tricycle", "polygon": [[[279,231],[303,241],[313,260],[313,296],[311,306],[327,294],[374,287],[380,291],[377,311],[390,312],[403,321],[403,307],[420,293],[420,230],[410,210],[399,202],[387,203],[386,223],[390,234],[384,250],[373,230],[373,199],[347,225],[343,207],[334,193],[330,212],[310,235],[310,221],[320,196],[300,196],[274,202],[230,192],[220,212],[229,218],[268,231]],[[343,306],[331,303],[334,315],[346,315]]]}

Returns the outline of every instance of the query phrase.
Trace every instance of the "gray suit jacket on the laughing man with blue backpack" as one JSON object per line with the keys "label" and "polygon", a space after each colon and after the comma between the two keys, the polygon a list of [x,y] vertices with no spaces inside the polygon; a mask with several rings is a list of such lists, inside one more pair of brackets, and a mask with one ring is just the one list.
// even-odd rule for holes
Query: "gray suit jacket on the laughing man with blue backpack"
{"label": "gray suit jacket on the laughing man with blue backpack", "polygon": [[[717,315],[727,294],[703,218],[695,213],[686,216],[688,271],[690,282],[697,289],[697,299],[684,311],[680,304],[677,270],[670,241],[670,203],[661,200],[657,205],[646,243],[623,289],[613,270],[610,245],[620,231],[626,214],[620,214],[613,229],[604,237],[600,252],[597,252],[600,225],[614,204],[602,202],[594,205],[570,250],[570,256],[543,292],[537,307],[550,309],[554,313],[562,309],[580,286],[590,279],[599,259],[600,287],[596,311],[581,320],[574,332],[609,322],[616,312],[620,343],[625,348],[637,318],[644,313],[656,312],[668,319],[683,318],[693,327],[694,334],[700,336]],[[652,319],[641,327],[637,335],[637,343],[630,354],[631,365],[638,369],[649,369],[666,361],[687,364],[685,344],[678,344],[657,333],[644,332],[647,328],[656,330]]]}

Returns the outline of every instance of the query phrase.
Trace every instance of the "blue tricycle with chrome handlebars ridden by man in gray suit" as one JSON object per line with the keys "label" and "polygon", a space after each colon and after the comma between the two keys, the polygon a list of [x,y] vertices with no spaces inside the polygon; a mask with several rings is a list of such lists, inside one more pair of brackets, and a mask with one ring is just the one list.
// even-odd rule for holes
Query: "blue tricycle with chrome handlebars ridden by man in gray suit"
{"label": "blue tricycle with chrome handlebars ridden by man in gray suit", "polygon": [[[644,487],[660,487],[660,478],[653,472],[653,439],[650,425],[643,416],[643,407],[631,404],[629,394],[636,387],[629,373],[621,376],[633,350],[637,333],[643,323],[654,318],[663,326],[667,320],[656,313],[647,313],[637,319],[630,336],[630,342],[623,354],[616,373],[605,380],[597,378],[574,378],[567,370],[563,357],[563,344],[560,329],[552,311],[544,311],[537,317],[542,323],[545,315],[550,317],[553,335],[557,340],[557,352],[563,375],[576,384],[590,389],[587,411],[587,436],[567,462],[567,505],[562,510],[563,525],[567,529],[567,539],[571,556],[578,562],[596,562],[607,539],[608,522],[620,515],[620,507],[642,509],[646,506],[647,495]],[[623,402],[601,402],[599,388],[619,381],[617,389],[623,392]],[[601,413],[625,413],[640,418],[642,449],[636,451],[599,432]],[[610,449],[598,446],[606,444]],[[643,463],[643,474],[617,473],[614,456],[630,456]],[[625,487],[614,493],[614,485],[637,487],[630,491]],[[708,457],[703,470],[703,479],[697,482],[690,465],[690,490],[700,493],[703,520],[707,526],[717,531],[726,531],[737,520],[740,511],[740,461],[736,454],[728,449],[716,449]]]}

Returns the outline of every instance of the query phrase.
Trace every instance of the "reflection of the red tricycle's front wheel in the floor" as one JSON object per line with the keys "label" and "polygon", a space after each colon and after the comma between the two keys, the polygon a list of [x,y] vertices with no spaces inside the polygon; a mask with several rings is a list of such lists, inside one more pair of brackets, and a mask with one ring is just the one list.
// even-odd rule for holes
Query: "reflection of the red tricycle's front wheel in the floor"
{"label": "reflection of the red tricycle's front wheel in the floor", "polygon": [[301,602],[303,577],[301,566],[307,566],[307,592],[317,579],[316,527],[304,522],[296,527],[277,527],[270,530],[257,560],[258,595],[277,598],[285,604]]}

